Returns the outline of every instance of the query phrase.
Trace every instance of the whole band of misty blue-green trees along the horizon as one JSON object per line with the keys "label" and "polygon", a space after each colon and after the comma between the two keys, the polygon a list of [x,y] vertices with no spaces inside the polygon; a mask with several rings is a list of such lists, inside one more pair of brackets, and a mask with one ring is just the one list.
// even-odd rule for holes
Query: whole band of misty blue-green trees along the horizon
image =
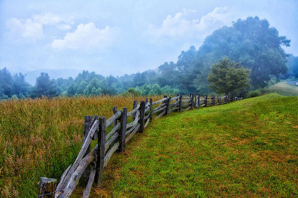
{"label": "whole band of misty blue-green trees along the horizon", "polygon": [[[232,91],[243,95],[249,90],[266,87],[272,78],[277,81],[298,78],[298,57],[287,54],[282,46],[289,47],[290,40],[279,36],[277,29],[270,27],[266,19],[247,17],[233,22],[231,27],[224,26],[215,30],[206,37],[199,49],[192,46],[181,52],[176,63],[164,62],[156,70],[121,77],[104,77],[95,72],[83,71],[75,78],[57,80],[50,79],[47,73],[41,73],[32,87],[25,81],[22,73],[11,75],[3,68],[0,70],[0,98],[122,93],[209,94],[214,91],[223,94]],[[241,72],[240,64],[246,70]],[[223,67],[226,69],[225,75],[232,76],[229,79],[241,81],[242,77],[247,76],[249,81],[244,82],[242,79],[242,86],[232,86],[235,89],[220,88],[223,84],[216,80],[222,78],[216,76],[216,72],[222,71]],[[245,87],[246,91],[242,89]]]}

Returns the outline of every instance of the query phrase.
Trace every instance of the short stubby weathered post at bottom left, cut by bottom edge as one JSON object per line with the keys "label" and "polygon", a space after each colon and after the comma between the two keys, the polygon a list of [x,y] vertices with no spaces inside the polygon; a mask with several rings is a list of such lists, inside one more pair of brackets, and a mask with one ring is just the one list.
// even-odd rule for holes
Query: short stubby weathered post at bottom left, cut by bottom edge
{"label": "short stubby weathered post at bottom left, cut by bottom edge", "polygon": [[55,198],[56,179],[40,178],[38,198]]}

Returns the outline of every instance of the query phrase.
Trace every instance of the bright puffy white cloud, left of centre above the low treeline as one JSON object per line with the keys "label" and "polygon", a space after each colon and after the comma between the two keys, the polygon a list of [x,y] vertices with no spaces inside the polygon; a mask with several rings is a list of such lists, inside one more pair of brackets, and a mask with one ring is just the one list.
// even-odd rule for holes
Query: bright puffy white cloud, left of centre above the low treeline
{"label": "bright puffy white cloud, left of centre above the low treeline", "polygon": [[117,28],[106,26],[98,29],[94,23],[79,24],[74,32],[68,32],[63,39],[55,39],[53,49],[104,49],[116,39]]}

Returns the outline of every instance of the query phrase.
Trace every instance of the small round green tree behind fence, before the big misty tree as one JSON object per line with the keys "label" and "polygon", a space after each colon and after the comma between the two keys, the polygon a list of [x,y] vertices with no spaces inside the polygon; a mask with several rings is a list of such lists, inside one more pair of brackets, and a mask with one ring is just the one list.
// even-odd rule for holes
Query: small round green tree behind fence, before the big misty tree
{"label": "small round green tree behind fence, before the big misty tree", "polygon": [[249,87],[249,74],[250,70],[243,68],[240,62],[234,63],[225,57],[212,65],[207,80],[216,93],[228,95]]}

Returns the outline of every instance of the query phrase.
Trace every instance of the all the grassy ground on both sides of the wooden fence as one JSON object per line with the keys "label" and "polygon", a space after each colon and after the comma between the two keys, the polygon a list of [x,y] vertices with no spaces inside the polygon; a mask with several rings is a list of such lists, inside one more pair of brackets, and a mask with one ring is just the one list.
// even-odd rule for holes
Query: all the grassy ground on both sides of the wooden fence
{"label": "all the grassy ground on both sides of the wooden fence", "polygon": [[[36,197],[39,177],[59,179],[74,162],[84,115],[110,117],[113,106],[131,110],[142,99],[0,102],[0,197]],[[267,94],[153,119],[112,156],[90,197],[297,197],[297,103]]]}

